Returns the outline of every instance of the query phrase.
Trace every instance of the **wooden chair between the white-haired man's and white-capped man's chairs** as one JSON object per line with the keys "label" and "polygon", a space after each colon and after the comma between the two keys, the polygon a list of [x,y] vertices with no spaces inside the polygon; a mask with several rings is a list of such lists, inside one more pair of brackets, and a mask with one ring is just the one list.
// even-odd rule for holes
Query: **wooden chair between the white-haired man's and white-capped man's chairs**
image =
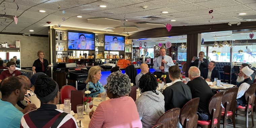
{"label": "wooden chair between the white-haired man's and white-capped man's chairs", "polygon": [[[227,90],[222,98],[222,104],[224,108],[222,108],[221,117],[218,120],[218,128],[220,128],[220,124],[223,124],[223,128],[226,128],[227,124],[233,123],[233,127],[235,128],[235,110],[236,110],[236,96],[237,96],[238,88],[234,87]],[[223,123],[220,123],[220,119],[223,119]],[[226,123],[226,119],[232,119],[232,122]]]}

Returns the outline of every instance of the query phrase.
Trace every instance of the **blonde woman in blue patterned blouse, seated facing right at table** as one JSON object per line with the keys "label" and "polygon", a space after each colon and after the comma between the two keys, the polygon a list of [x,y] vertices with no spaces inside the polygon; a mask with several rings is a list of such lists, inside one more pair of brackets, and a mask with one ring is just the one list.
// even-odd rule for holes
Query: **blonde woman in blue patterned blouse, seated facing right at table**
{"label": "blonde woman in blue patterned blouse, seated facing right at table", "polygon": [[104,91],[102,84],[99,82],[101,77],[101,67],[93,66],[89,69],[88,77],[85,81],[86,90],[91,91],[89,96],[101,97],[101,93]]}

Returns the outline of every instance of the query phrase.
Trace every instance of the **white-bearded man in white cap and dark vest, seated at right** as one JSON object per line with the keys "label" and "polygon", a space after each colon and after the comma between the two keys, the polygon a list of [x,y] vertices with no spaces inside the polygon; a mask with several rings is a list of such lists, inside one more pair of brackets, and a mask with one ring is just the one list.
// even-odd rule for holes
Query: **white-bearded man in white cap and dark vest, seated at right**
{"label": "white-bearded man in white cap and dark vest, seated at right", "polygon": [[236,81],[238,83],[241,83],[241,85],[238,87],[238,93],[236,96],[237,105],[245,106],[246,105],[246,99],[245,99],[245,91],[253,84],[252,80],[250,79],[250,75],[253,73],[253,70],[250,69],[248,66],[244,67],[242,70],[240,70],[240,73],[238,73],[238,77]]}

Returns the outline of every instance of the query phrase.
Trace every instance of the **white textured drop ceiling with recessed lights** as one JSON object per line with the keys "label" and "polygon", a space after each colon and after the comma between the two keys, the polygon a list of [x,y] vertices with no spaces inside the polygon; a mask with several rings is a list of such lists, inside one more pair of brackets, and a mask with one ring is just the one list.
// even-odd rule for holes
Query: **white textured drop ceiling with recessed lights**
{"label": "white textured drop ceiling with recessed lights", "polygon": [[[58,24],[94,30],[103,30],[107,27],[137,27],[135,24],[138,23],[160,25],[170,23],[172,26],[190,26],[211,24],[209,20],[212,15],[214,18],[210,21],[214,24],[229,22],[246,24],[248,21],[239,18],[238,16],[241,15],[238,13],[256,14],[256,0],[16,0],[15,2],[19,5],[18,11],[16,11],[17,5],[13,0],[0,0],[0,2],[1,7],[5,4],[4,11],[7,15],[19,16],[17,25],[13,20],[7,19],[0,26],[0,32],[39,35],[48,35],[47,27]],[[99,5],[107,7],[102,8]],[[143,5],[148,7],[143,9],[141,7]],[[46,12],[39,12],[39,10]],[[65,14],[62,13],[63,10]],[[214,10],[211,15],[209,15],[210,10]],[[162,11],[168,11],[168,13],[162,13]],[[0,14],[4,12],[0,11]],[[78,15],[82,18],[77,18]],[[145,18],[152,16],[156,18]],[[63,21],[62,18],[66,20]],[[108,18],[121,22],[114,25],[88,23],[88,19],[95,18]],[[124,19],[128,20],[125,25]],[[3,18],[0,20],[4,21]],[[170,20],[176,21],[170,22]],[[47,24],[48,21],[52,23]],[[182,24],[182,22],[188,24]],[[152,27],[137,28],[138,31],[142,31]],[[34,32],[29,32],[29,30],[34,30]]]}

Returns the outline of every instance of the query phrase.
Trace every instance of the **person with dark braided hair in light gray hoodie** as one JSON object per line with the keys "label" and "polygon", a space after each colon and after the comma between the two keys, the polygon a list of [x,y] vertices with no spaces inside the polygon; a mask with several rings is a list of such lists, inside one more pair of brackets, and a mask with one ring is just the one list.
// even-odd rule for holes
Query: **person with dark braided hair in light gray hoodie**
{"label": "person with dark braided hair in light gray hoodie", "polygon": [[156,90],[156,77],[151,73],[142,75],[138,82],[141,96],[135,101],[143,128],[151,128],[164,114],[164,96]]}

